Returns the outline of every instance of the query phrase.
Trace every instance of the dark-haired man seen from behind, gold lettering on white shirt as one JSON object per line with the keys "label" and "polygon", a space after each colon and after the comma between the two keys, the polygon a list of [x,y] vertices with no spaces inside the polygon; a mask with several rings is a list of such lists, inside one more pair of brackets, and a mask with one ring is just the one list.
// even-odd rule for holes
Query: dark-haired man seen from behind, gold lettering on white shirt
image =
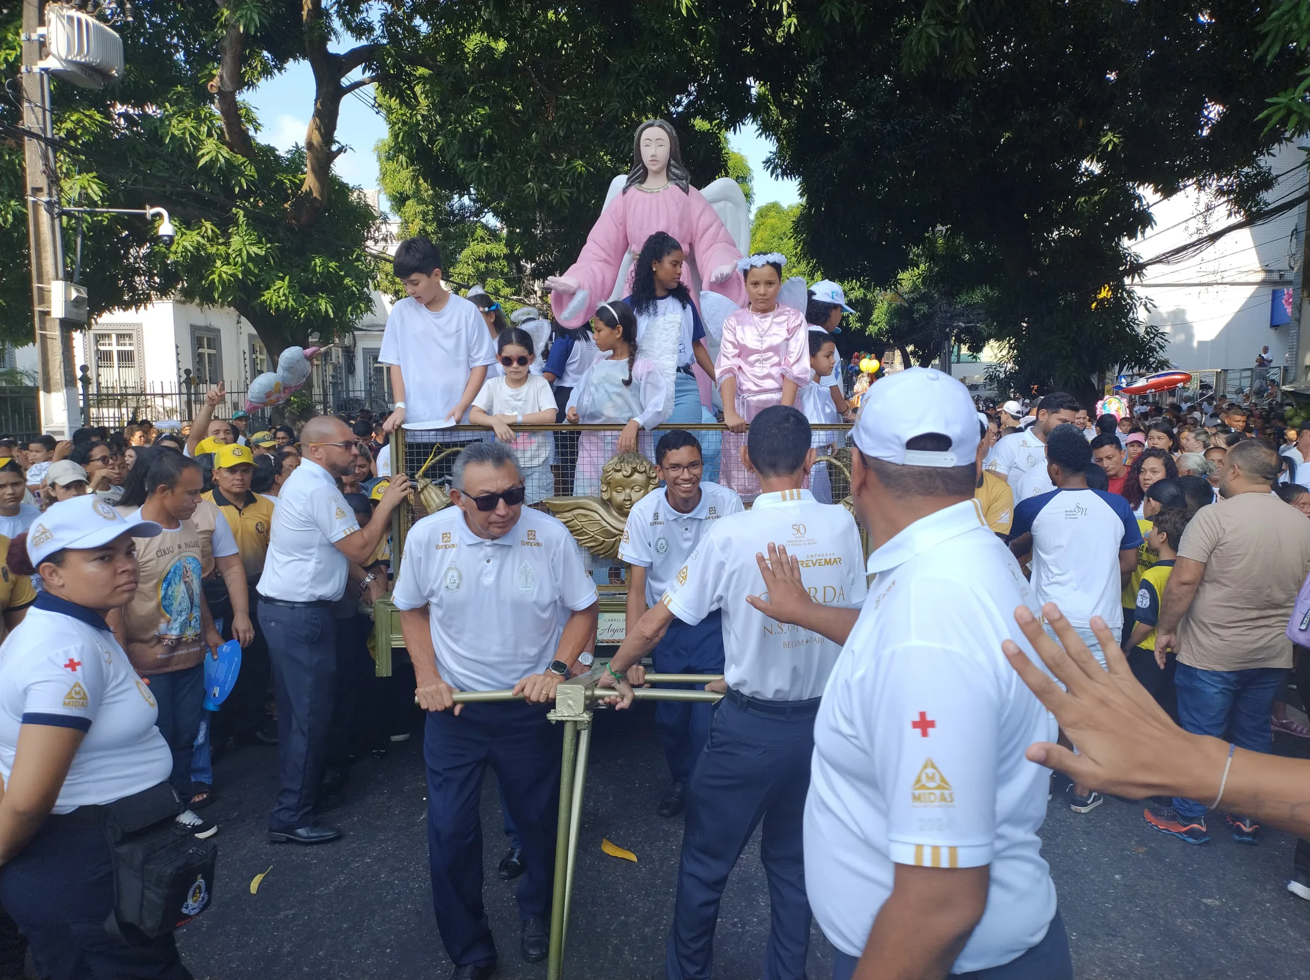
{"label": "dark-haired man seen from behind, gold lettering on white shirt", "polygon": [[673,617],[694,625],[722,611],[727,694],[688,786],[668,980],[709,980],[723,887],[761,820],[760,858],[772,897],[762,975],[804,976],[810,905],[802,814],[815,714],[838,647],[762,616],[745,600],[761,587],[756,554],[764,541],[786,542],[821,608],[858,607],[865,599],[855,521],[844,507],[819,503],[800,489],[815,459],[810,439],[810,422],[796,409],[776,405],[755,417],[741,462],[764,493],[749,511],[715,521],[673,575],[673,587],[624,638],[601,681],[620,692],[621,706],[631,704],[624,672],[651,651]]}

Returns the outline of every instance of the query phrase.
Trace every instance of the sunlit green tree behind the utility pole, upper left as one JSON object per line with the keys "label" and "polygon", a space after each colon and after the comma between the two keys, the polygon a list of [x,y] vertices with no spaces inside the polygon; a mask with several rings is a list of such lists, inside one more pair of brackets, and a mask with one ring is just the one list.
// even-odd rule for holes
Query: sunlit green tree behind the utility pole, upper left
{"label": "sunlit green tree behind the utility pole, upper left", "polygon": [[[376,212],[331,173],[345,79],[376,60],[364,3],[342,0],[136,0],[97,16],[123,38],[126,76],[101,90],[52,84],[60,199],[90,207],[166,207],[177,227],[159,245],[144,217],[85,219],[81,279],[92,314],[156,296],[229,305],[276,355],[312,331],[330,337],[371,309],[376,259],[367,246]],[[17,17],[0,42],[0,73],[17,64]],[[343,54],[329,42],[355,38]],[[316,104],[305,144],[280,153],[259,143],[258,123],[238,101],[246,86],[291,60],[310,63]],[[0,104],[4,134],[21,117]],[[307,109],[309,109],[307,106]],[[21,135],[21,134],[20,134]],[[21,144],[0,147],[0,187],[22,181]],[[5,200],[10,200],[5,195]],[[26,221],[0,210],[0,329],[31,337]],[[75,254],[76,220],[66,217]],[[72,274],[72,269],[68,270]]]}

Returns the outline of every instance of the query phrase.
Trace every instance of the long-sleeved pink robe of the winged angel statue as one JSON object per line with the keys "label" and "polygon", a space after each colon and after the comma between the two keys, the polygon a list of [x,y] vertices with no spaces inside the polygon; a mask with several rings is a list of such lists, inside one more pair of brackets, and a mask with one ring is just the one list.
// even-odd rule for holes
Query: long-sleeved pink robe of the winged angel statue
{"label": "long-sleeved pink robe of the winged angel statue", "polygon": [[[625,194],[620,194],[609,202],[609,207],[600,212],[578,261],[565,273],[566,276],[578,280],[579,292],[587,290],[591,293],[587,297],[587,305],[578,317],[565,320],[561,314],[576,293],[552,292],[550,308],[555,320],[563,326],[572,328],[582,326],[596,316],[596,307],[614,292],[614,280],[624,265],[624,257],[629,252],[641,252],[642,245],[655,232],[672,235],[683,246],[683,252],[689,259],[683,266],[683,282],[697,307],[700,307],[702,288],[722,293],[738,305],[745,303],[745,286],[739,273],[735,273],[727,282],[710,282],[710,275],[715,269],[736,263],[741,258],[736,242],[732,241],[728,229],[723,227],[723,220],[696,187],[689,187],[684,193],[681,187],[671,183],[655,194],[648,194],[639,187],[629,187]],[[703,282],[697,282],[697,279]],[[626,296],[630,291],[631,275],[629,274],[627,283],[618,295]]]}

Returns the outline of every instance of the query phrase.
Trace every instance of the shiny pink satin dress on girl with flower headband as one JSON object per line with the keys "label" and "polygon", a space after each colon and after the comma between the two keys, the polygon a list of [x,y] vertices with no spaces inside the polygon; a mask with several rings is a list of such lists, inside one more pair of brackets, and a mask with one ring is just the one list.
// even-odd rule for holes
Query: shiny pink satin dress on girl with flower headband
{"label": "shiny pink satin dress on girl with flower headband", "polygon": [[[795,381],[798,389],[810,384],[810,326],[804,314],[781,304],[772,313],[752,313],[749,308],[734,312],[723,321],[714,373],[720,386],[724,377],[736,379],[734,407],[747,422],[770,405],[781,405],[782,379]],[[719,482],[753,500],[760,481],[741,465],[745,436],[723,434]]]}

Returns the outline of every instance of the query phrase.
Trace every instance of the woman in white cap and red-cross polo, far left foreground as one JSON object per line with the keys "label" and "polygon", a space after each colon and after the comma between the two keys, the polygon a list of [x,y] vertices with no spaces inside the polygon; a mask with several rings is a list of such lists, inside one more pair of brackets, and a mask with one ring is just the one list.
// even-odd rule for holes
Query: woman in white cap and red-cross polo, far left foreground
{"label": "woman in white cap and red-cross polo, far left foreground", "polygon": [[94,494],[52,504],[28,533],[46,591],[0,646],[0,903],[43,977],[191,976],[172,933],[130,946],[105,929],[103,808],[173,768],[155,698],[105,622],[136,592],[134,536],[159,533]]}

